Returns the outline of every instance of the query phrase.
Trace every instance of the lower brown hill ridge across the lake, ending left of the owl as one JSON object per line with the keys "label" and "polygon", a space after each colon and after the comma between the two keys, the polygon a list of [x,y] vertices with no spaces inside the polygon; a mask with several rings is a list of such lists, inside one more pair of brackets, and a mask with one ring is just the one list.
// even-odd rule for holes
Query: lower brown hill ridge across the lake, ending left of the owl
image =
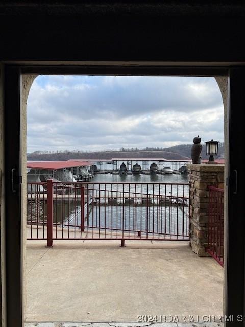
{"label": "lower brown hill ridge across the lake, ending left of the owl", "polygon": [[101,151],[101,152],[62,152],[62,153],[40,153],[36,151],[27,154],[27,160],[70,160],[70,159],[107,159],[112,158],[163,158],[173,160],[186,160],[188,156],[183,156],[177,152],[169,151]]}

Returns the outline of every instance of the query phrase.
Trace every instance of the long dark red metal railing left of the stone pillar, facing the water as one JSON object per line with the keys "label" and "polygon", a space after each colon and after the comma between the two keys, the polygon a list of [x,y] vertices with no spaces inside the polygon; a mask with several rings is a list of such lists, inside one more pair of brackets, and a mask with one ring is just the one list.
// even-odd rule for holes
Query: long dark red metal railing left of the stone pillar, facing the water
{"label": "long dark red metal railing left of the stone pillar, facing the water", "polygon": [[28,183],[28,240],[188,240],[189,184]]}

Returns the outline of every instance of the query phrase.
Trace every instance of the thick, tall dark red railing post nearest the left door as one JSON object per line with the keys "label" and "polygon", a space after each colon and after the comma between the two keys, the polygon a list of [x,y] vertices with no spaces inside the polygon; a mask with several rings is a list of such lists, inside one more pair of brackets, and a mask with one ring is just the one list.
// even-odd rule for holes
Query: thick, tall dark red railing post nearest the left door
{"label": "thick, tall dark red railing post nearest the left door", "polygon": [[53,228],[54,228],[54,185],[53,179],[47,180],[47,247],[53,246]]}

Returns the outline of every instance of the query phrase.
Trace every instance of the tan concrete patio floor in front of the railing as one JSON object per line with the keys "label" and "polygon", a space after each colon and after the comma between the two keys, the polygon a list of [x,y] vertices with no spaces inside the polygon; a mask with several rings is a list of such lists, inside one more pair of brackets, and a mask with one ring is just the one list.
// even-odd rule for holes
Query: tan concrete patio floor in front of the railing
{"label": "tan concrete patio floor in front of the railing", "polygon": [[222,315],[223,268],[186,242],[27,244],[29,322],[127,322],[138,315]]}

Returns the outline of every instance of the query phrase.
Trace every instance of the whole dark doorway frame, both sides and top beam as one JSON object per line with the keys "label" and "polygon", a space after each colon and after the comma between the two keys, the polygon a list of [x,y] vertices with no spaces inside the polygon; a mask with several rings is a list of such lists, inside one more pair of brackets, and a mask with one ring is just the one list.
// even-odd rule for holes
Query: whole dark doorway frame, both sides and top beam
{"label": "whole dark doorway frame, both sides and top beam", "polygon": [[[77,74],[77,75],[159,75],[159,76],[229,76],[229,159],[227,187],[227,258],[226,314],[244,316],[244,185],[242,160],[236,158],[241,151],[243,122],[245,120],[245,69],[229,66],[115,66],[115,65],[5,65],[5,172],[6,172],[6,298],[9,327],[23,323],[22,287],[22,218],[21,218],[21,74]],[[241,116],[239,115],[241,114]],[[239,140],[239,142],[237,142]],[[227,176],[227,177],[228,177]],[[238,176],[237,185],[234,180]],[[245,182],[245,180],[244,180]],[[237,188],[237,192],[235,192]],[[235,217],[235,218],[234,218]],[[232,219],[233,218],[233,219]],[[23,217],[24,219],[24,217]],[[239,232],[238,232],[239,231]],[[207,281],[208,283],[208,281]],[[228,321],[232,326],[234,321]],[[243,321],[239,322],[243,325]]]}

